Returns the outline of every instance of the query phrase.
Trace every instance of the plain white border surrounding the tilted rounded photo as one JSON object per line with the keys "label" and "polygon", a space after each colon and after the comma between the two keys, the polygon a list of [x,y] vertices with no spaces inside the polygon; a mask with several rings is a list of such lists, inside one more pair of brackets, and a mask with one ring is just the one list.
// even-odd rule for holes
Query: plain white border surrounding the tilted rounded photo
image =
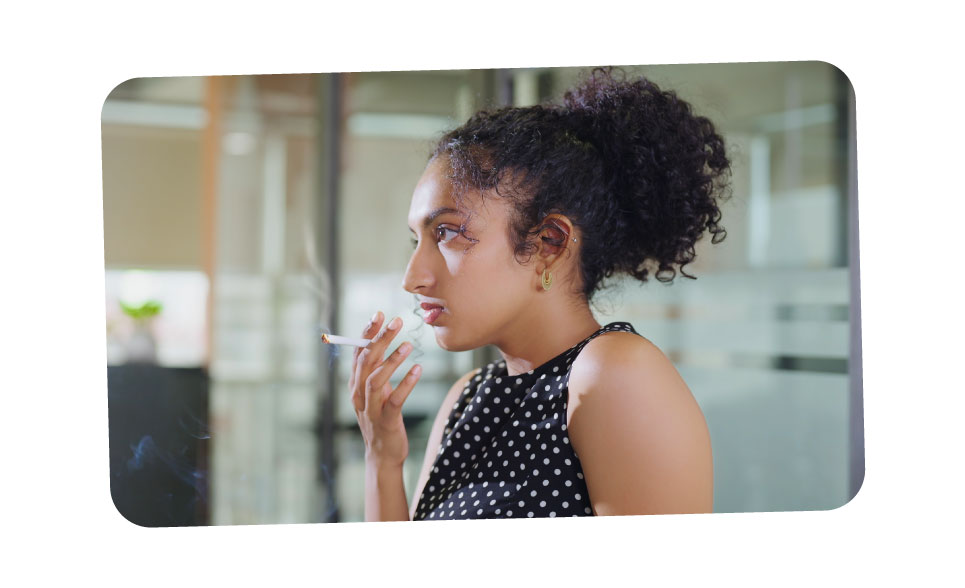
{"label": "plain white border surrounding the tilted rounded photo", "polygon": [[[534,5],[536,3],[533,3]],[[669,4],[669,3],[668,3]],[[10,3],[0,14],[8,585],[960,581],[959,18],[941,3]],[[740,8],[738,8],[740,5]],[[13,6],[13,7],[11,7]],[[783,6],[783,5],[782,5]],[[914,8],[912,8],[914,7]],[[857,96],[865,484],[830,512],[143,529],[109,492],[100,110],[132,77],[823,60]],[[9,583],[9,580],[14,583]]]}

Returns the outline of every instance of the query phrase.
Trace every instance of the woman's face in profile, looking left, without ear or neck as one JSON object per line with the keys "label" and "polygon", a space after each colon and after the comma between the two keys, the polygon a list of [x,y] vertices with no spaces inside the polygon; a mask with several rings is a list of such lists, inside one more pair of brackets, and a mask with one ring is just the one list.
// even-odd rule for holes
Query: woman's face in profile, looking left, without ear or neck
{"label": "woman's face in profile, looking left, without ear or neck", "polygon": [[513,256],[509,203],[469,194],[457,205],[446,161],[429,162],[412,194],[415,251],[403,287],[423,307],[439,346],[449,351],[498,344],[534,295],[534,270]]}

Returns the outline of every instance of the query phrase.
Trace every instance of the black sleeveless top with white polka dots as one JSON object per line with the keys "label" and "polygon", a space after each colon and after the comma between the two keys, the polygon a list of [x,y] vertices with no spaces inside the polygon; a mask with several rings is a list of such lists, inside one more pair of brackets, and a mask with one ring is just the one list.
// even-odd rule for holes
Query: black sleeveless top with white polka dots
{"label": "black sleeveless top with white polka dots", "polygon": [[610,323],[538,368],[482,368],[453,404],[414,520],[589,516],[589,492],[566,431],[570,366]]}

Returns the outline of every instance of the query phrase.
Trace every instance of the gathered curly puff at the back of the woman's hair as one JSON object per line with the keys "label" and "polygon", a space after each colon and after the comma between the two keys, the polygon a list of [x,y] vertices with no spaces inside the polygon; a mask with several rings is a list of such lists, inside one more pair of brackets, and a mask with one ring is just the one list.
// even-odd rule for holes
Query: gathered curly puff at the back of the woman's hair
{"label": "gathered curly puff at the back of the woman's hair", "polygon": [[[642,77],[628,81],[612,67],[594,69],[563,95],[562,107],[572,131],[599,151],[609,195],[634,219],[625,249],[649,250],[658,279],[672,280],[674,266],[692,277],[683,266],[700,235],[709,231],[718,243],[727,234],[714,196],[724,192],[730,161],[713,123],[676,92]],[[646,264],[621,265],[617,271],[646,278]]]}

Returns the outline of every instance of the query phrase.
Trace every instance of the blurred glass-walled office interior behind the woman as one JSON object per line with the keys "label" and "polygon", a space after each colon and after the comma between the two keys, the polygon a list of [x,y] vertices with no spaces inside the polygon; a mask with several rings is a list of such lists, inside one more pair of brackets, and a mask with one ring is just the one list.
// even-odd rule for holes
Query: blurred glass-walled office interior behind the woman
{"label": "blurred glass-walled office interior behind the woman", "polygon": [[[715,511],[832,509],[864,475],[854,98],[821,62],[624,67],[715,122],[727,239],[595,310],[674,361],[713,441]],[[409,198],[476,109],[587,68],[139,78],[102,113],[111,492],[146,526],[364,519],[351,348],[382,310],[424,366],[404,407],[410,504],[449,353],[402,290]],[[401,341],[400,337],[400,341]]]}

